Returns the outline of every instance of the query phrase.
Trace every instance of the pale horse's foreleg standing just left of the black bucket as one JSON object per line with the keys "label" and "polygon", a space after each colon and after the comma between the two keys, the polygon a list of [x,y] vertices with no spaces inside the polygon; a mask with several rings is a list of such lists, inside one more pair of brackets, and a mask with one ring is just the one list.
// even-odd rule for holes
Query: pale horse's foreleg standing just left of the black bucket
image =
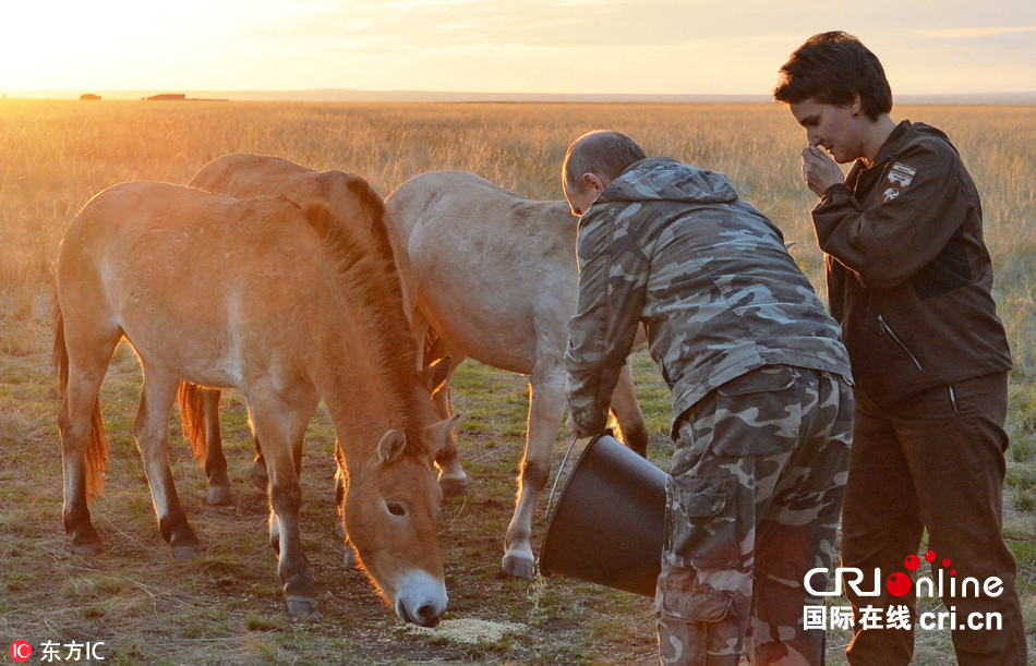
{"label": "pale horse's foreleg standing just left of the black bucket", "polygon": [[515,514],[504,540],[505,573],[515,578],[534,578],[532,555],[532,513],[537,497],[551,475],[551,453],[565,415],[565,378],[561,366],[547,372],[534,368],[529,383],[529,424],[526,452],[518,477]]}

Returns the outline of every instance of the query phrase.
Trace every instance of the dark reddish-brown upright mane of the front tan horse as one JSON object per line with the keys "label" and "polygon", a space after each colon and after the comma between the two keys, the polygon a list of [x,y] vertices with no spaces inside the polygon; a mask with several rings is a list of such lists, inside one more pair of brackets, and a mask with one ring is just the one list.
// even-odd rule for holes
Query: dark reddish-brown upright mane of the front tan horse
{"label": "dark reddish-brown upright mane of the front tan horse", "polygon": [[[339,172],[341,173],[341,172]],[[407,433],[411,444],[421,441],[418,400],[418,355],[409,322],[403,310],[402,278],[386,229],[385,202],[361,177],[348,175],[347,186],[369,223],[357,220],[328,220],[329,210],[306,211],[311,227],[321,235],[323,245],[334,261],[342,294],[354,310],[354,322],[373,346],[378,373],[390,393],[395,426]],[[411,449],[415,453],[419,449]]]}

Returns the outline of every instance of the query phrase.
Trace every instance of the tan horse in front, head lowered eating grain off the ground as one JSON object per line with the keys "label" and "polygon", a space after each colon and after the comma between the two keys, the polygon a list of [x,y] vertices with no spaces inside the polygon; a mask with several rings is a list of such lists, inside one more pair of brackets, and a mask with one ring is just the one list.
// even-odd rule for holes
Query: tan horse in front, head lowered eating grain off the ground
{"label": "tan horse in front, head lowered eating grain off the ground", "polygon": [[[364,181],[351,192],[370,223],[384,215]],[[401,291],[369,258],[325,208],[303,210],[279,196],[237,199],[134,182],[91,199],[57,264],[62,518],[73,552],[103,549],[88,509],[107,453],[98,396],[125,337],[144,375],[133,433],[174,557],[198,553],[168,461],[178,383],[239,388],[269,470],[269,538],[287,610],[320,617],[299,535],[298,475],[303,435],[323,400],[348,485],[352,544],[399,617],[437,623],[447,596],[433,457],[453,422],[438,420],[415,372],[418,347],[399,325]],[[397,303],[397,318],[375,306],[383,300]]]}

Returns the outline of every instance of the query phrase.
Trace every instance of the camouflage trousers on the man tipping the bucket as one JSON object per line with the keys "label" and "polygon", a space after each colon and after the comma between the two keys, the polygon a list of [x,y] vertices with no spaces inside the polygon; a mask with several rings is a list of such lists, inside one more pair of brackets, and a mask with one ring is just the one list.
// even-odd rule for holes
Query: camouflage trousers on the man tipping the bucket
{"label": "camouflage trousers on the man tipping the bucket", "polygon": [[823,605],[845,492],[853,393],[834,374],[770,365],[710,392],[674,425],[655,593],[661,664],[822,664]]}

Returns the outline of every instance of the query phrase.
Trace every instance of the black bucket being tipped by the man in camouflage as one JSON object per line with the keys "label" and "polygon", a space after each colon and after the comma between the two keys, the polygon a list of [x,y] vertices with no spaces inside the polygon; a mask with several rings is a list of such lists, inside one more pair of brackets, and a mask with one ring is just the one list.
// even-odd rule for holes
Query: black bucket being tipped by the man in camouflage
{"label": "black bucket being tipped by the man in camouflage", "polygon": [[591,440],[549,518],[540,572],[653,597],[666,476],[609,435]]}

